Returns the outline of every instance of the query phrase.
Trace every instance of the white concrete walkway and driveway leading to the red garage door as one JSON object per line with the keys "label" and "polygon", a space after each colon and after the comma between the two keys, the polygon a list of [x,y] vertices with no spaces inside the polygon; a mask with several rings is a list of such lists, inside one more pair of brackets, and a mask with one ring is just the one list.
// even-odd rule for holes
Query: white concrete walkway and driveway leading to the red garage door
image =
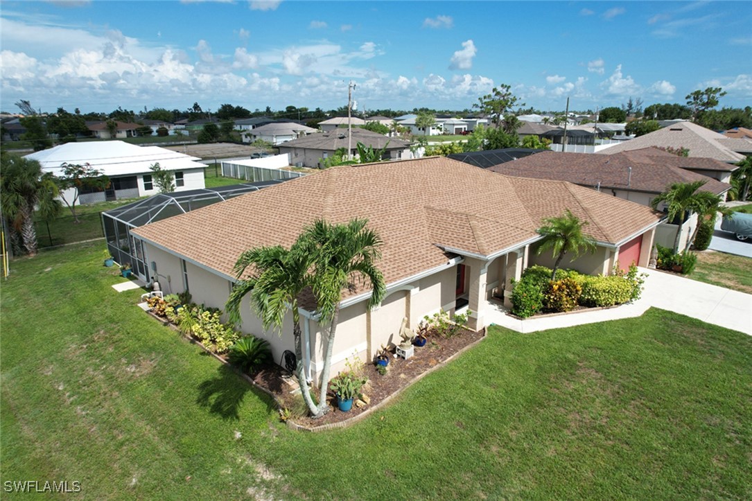
{"label": "white concrete walkway and driveway leading to the red garage door", "polygon": [[641,268],[640,271],[648,275],[645,279],[645,288],[642,297],[629,305],[517,320],[508,316],[499,302],[489,302],[486,317],[489,323],[496,323],[517,332],[537,332],[639,317],[647,308],[654,306],[752,335],[752,294],[724,289],[654,269]]}

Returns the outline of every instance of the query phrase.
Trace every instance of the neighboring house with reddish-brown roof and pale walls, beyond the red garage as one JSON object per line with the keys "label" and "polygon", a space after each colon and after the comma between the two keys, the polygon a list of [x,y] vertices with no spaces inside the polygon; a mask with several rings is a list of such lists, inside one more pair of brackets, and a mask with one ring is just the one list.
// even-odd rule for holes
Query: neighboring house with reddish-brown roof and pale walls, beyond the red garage
{"label": "neighboring house with reddish-brown roof and pale walls, beyond the red garage", "polygon": [[[694,160],[702,160],[695,162]],[[725,196],[730,185],[714,178],[693,172],[726,168],[723,162],[711,159],[690,159],[650,148],[639,152],[617,153],[599,156],[590,153],[557,153],[543,151],[514,162],[506,162],[487,169],[503,175],[523,176],[557,181],[569,181],[582,187],[611,194],[620,199],[636,202],[646,207],[674,183],[705,181],[702,190]],[[680,165],[692,164],[691,168]],[[702,163],[702,165],[701,165]],[[663,207],[661,207],[663,209]],[[681,227],[664,223],[656,234],[656,243],[673,247],[677,231],[681,231],[680,245],[692,235],[697,217],[682,222]],[[683,247],[682,247],[683,248]]]}

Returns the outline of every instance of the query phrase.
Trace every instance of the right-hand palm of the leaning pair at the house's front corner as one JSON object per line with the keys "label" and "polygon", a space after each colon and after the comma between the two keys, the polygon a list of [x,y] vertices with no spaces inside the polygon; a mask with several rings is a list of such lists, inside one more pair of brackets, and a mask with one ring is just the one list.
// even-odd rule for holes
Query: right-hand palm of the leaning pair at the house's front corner
{"label": "right-hand palm of the leaning pair at the house's front corner", "polygon": [[320,323],[329,324],[321,375],[320,405],[316,417],[323,416],[329,410],[326,392],[342,290],[354,290],[353,281],[359,280],[368,282],[372,289],[368,308],[373,308],[384,299],[384,276],[375,266],[375,262],[381,258],[382,241],[376,232],[365,227],[367,223],[366,219],[353,219],[346,224],[316,220],[305,229],[301,237],[311,243],[311,249],[314,249],[316,255],[313,291],[317,300],[317,313],[320,315]]}

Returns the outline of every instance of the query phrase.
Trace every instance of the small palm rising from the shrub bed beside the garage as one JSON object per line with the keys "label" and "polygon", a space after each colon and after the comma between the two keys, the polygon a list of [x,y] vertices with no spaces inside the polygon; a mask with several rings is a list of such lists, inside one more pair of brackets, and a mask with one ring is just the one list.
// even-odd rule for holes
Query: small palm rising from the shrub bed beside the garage
{"label": "small palm rising from the shrub bed beside the garage", "polygon": [[541,255],[546,250],[553,251],[556,263],[553,263],[551,280],[556,280],[556,269],[564,259],[564,254],[569,252],[578,257],[583,250],[590,251],[591,254],[596,251],[596,241],[582,232],[587,221],[581,221],[569,209],[566,209],[563,216],[544,218],[543,223],[545,226],[538,229],[543,240],[537,254]]}

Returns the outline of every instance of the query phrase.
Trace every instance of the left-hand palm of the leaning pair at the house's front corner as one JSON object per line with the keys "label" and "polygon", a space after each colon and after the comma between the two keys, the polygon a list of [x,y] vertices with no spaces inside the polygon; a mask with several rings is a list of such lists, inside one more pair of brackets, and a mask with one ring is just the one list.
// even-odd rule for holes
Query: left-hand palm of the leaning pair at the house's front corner
{"label": "left-hand palm of the leaning pair at the house's front corner", "polygon": [[[298,239],[289,250],[281,245],[246,250],[235,263],[238,280],[232,287],[225,309],[232,322],[240,323],[241,303],[245,296],[250,295],[251,305],[261,318],[264,329],[273,327],[277,334],[281,334],[285,314],[288,310],[292,311],[296,375],[308,410],[311,414],[317,414],[318,408],[311,399],[308,379],[305,377],[298,312],[298,297],[311,284],[308,269],[311,268],[312,254],[303,247],[304,243]],[[247,271],[252,275],[243,278]]]}

